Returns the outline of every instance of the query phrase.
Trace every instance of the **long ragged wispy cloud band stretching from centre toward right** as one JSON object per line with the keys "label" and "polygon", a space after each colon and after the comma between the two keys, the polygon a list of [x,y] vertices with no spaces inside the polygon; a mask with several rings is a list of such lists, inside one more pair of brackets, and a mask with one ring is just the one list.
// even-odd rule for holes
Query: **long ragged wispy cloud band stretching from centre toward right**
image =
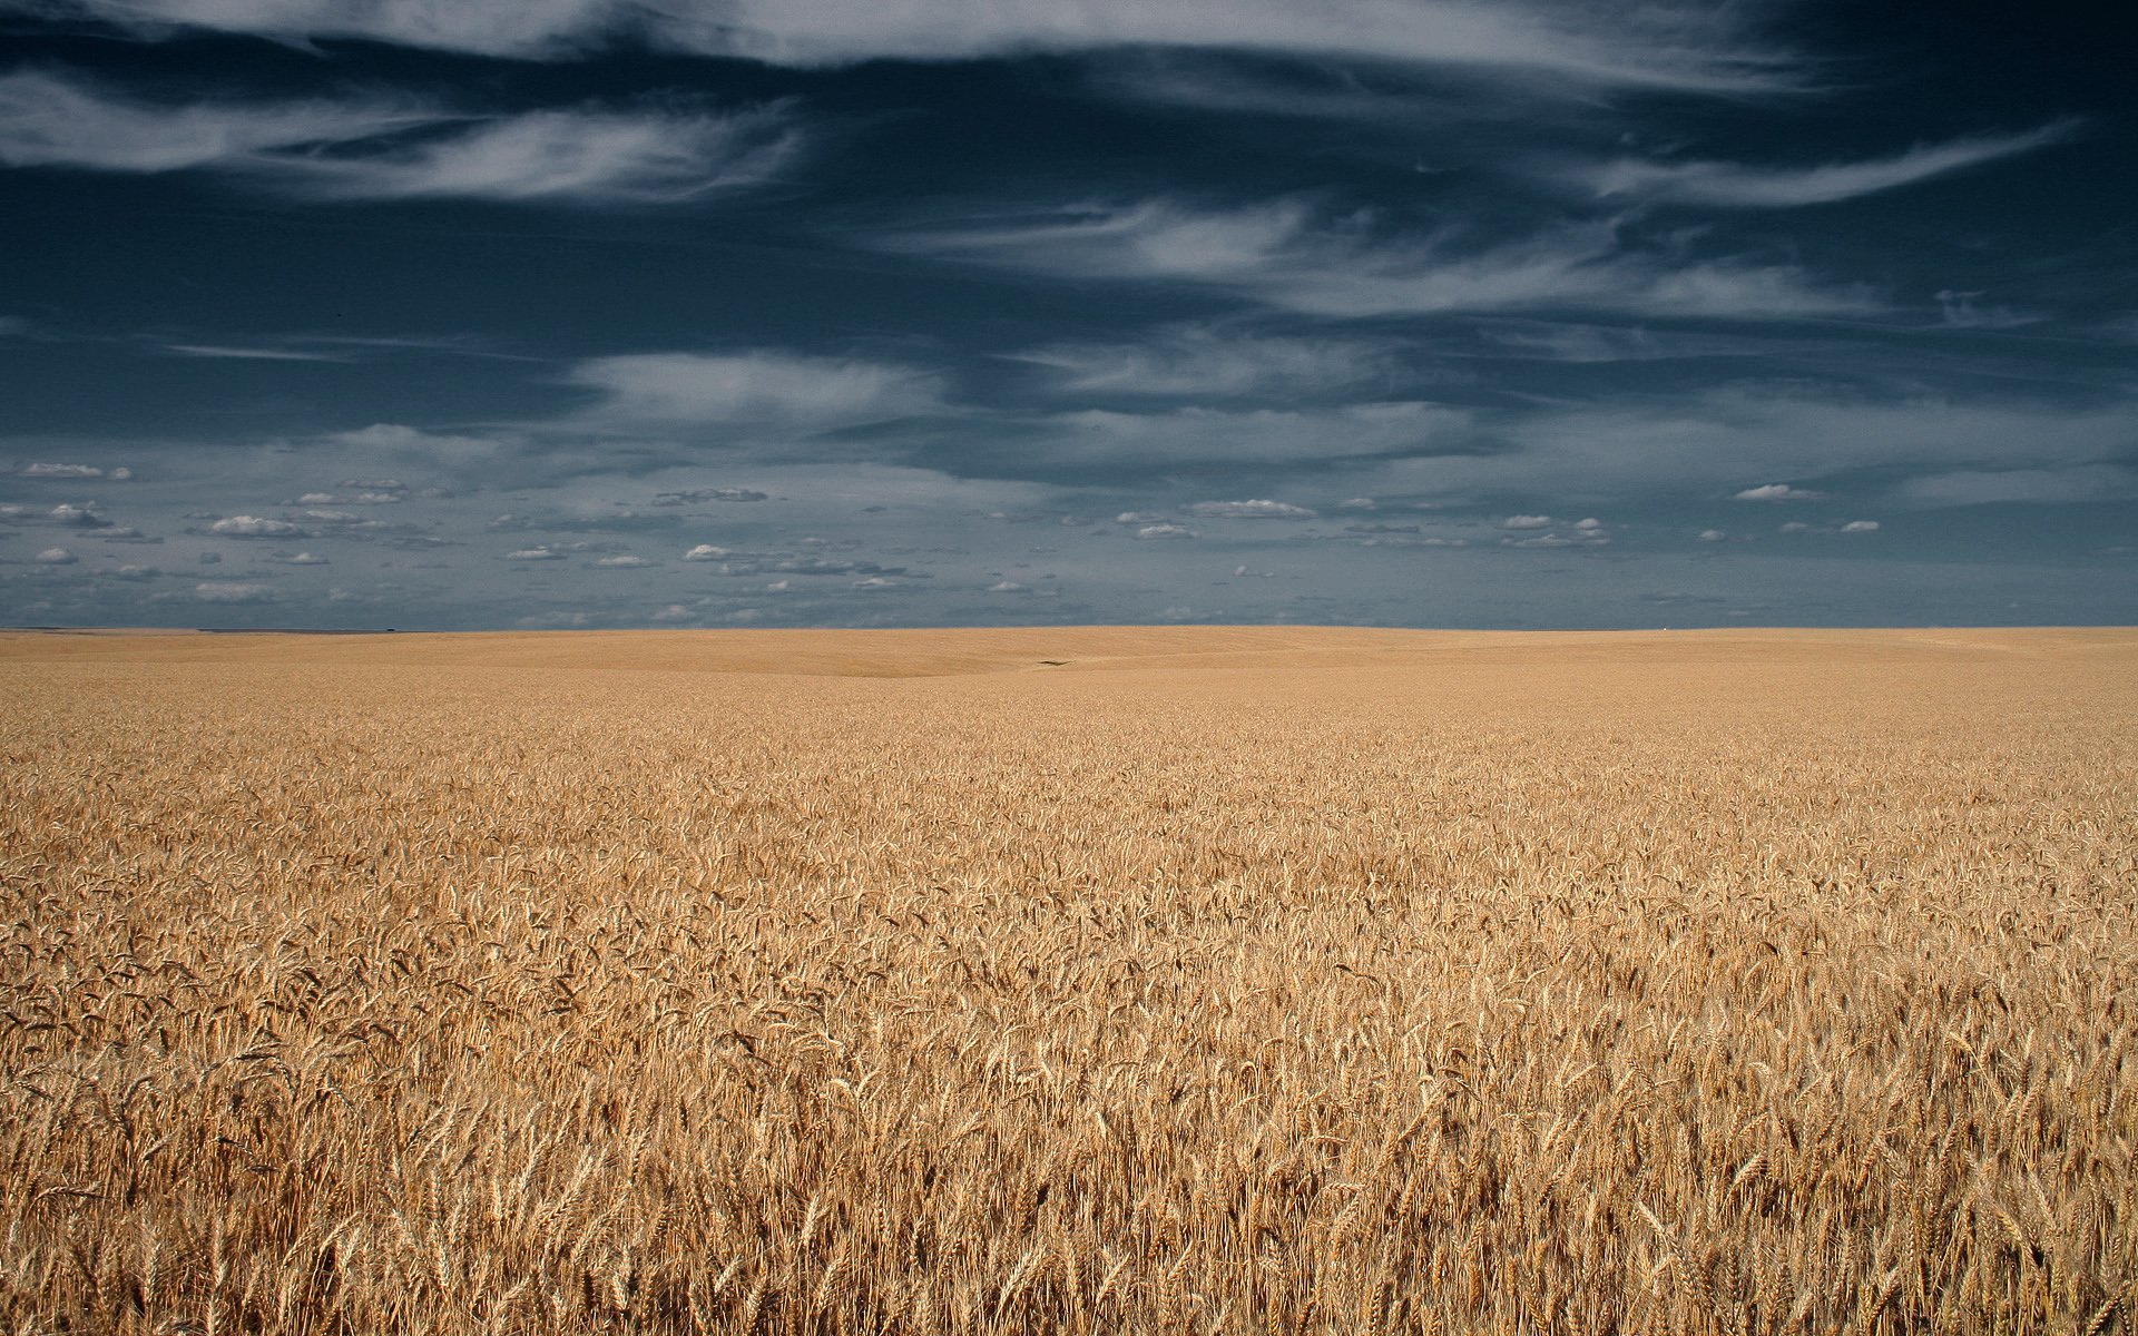
{"label": "long ragged wispy cloud band stretching from centre toward right", "polygon": [[881,233],[872,244],[1056,278],[1178,282],[1343,319],[1509,310],[1800,319],[1881,308],[1866,289],[1824,286],[1796,265],[1642,248],[1608,220],[1475,248],[1452,233],[1385,235],[1377,216],[1326,216],[1304,199],[1231,209],[1163,199],[1084,205]]}

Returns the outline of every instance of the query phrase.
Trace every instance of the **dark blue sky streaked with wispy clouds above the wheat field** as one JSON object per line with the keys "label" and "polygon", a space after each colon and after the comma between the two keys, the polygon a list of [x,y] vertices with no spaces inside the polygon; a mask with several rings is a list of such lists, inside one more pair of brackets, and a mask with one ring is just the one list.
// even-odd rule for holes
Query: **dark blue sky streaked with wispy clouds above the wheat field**
{"label": "dark blue sky streaked with wispy clouds above the wheat field", "polygon": [[0,0],[0,622],[2138,622],[2138,13]]}

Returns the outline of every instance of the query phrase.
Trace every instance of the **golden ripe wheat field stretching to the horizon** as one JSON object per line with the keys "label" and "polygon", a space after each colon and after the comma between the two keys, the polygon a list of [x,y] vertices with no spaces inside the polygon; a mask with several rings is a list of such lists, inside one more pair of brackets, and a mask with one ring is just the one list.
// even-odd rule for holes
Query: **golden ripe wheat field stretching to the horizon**
{"label": "golden ripe wheat field stretching to the horizon", "polygon": [[0,635],[9,1332],[2138,1330],[2138,631]]}

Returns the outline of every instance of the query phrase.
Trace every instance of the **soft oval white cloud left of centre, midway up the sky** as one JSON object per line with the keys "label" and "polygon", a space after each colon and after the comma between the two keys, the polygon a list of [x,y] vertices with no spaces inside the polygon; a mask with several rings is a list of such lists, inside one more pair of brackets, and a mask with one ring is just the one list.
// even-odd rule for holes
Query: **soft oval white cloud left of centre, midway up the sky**
{"label": "soft oval white cloud left of centre, midway up the sky", "polygon": [[776,351],[597,357],[575,366],[569,380],[601,391],[573,421],[607,430],[832,430],[943,408],[934,374]]}

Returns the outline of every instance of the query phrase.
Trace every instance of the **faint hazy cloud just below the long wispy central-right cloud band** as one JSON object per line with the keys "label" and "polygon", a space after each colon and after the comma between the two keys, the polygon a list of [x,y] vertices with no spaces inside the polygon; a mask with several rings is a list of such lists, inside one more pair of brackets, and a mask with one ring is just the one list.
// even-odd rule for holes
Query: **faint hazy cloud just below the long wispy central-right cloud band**
{"label": "faint hazy cloud just below the long wispy central-right cloud band", "polygon": [[1152,398],[1302,395],[1394,376],[1394,344],[1360,338],[1234,336],[1208,325],[1146,342],[1050,344],[1013,353],[1043,366],[1056,389]]}

